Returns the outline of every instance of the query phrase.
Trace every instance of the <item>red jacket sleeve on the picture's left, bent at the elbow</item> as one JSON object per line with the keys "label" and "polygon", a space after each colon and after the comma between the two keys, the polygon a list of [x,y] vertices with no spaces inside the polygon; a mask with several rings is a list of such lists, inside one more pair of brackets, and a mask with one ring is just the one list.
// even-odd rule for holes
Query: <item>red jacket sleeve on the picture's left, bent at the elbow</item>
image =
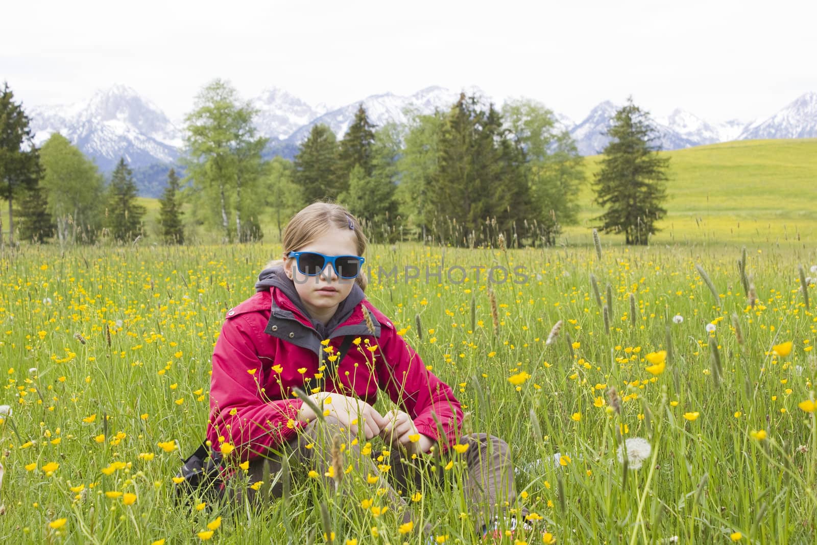
{"label": "red jacket sleeve on the picture's left, bent at the elbow", "polygon": [[222,448],[229,443],[242,460],[288,443],[302,426],[301,400],[266,400],[261,392],[263,364],[253,342],[258,334],[248,315],[227,319],[212,354],[208,440],[221,452],[230,450]]}

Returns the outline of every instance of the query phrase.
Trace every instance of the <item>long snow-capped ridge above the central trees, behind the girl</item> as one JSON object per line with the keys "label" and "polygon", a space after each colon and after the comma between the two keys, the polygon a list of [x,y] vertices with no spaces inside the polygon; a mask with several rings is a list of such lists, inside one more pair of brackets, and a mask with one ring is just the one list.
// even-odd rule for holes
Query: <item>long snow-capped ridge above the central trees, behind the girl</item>
{"label": "long snow-capped ridge above the central trees, behind the girl", "polygon": [[[467,96],[481,97],[485,103],[491,101],[489,96],[479,87],[467,87],[463,89]],[[382,95],[367,96],[362,101],[353,102],[342,108],[334,109],[319,118],[315,118],[288,137],[288,141],[300,144],[309,136],[312,127],[323,123],[332,129],[332,132],[341,138],[346,134],[346,130],[355,121],[355,112],[359,105],[366,109],[369,121],[382,127],[382,125],[394,122],[399,124],[408,123],[409,112],[417,114],[431,114],[435,109],[448,110],[458,101],[460,91],[451,91],[444,87],[426,87],[413,95],[400,96],[387,92]]]}

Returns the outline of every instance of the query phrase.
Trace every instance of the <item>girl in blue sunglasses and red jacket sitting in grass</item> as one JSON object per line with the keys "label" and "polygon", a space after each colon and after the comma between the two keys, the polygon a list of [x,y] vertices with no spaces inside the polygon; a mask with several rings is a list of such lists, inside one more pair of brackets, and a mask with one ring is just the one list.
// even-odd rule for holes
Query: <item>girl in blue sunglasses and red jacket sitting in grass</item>
{"label": "girl in blue sunglasses and red jacket sitting in grass", "polygon": [[[459,436],[462,409],[451,388],[364,296],[366,243],[346,208],[311,204],[284,230],[283,261],[261,271],[257,293],[227,312],[212,355],[208,440],[232,465],[248,462],[255,485],[238,490],[228,480],[226,493],[258,501],[257,483],[281,471],[283,456],[340,487],[343,457],[386,488],[405,522],[411,512],[389,483],[406,490],[421,480],[412,469],[431,465],[428,453],[438,450],[467,462],[464,492],[484,533],[516,498],[507,444]],[[397,408],[374,409],[381,390]],[[388,458],[377,465],[368,457],[375,437]],[[280,493],[280,483],[270,490]]]}

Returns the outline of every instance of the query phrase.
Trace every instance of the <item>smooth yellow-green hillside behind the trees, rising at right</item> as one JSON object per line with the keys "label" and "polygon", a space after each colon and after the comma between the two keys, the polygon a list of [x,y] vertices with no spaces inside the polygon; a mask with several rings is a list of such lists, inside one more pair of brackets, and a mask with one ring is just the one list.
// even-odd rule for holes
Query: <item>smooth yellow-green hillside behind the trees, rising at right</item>
{"label": "smooth yellow-green hillside behind the trees, rising at right", "polygon": [[[817,139],[734,141],[662,153],[671,158],[669,213],[654,242],[775,242],[798,236],[817,241]],[[567,243],[590,241],[592,218],[601,212],[590,184],[599,160],[587,158],[579,225],[565,228]],[[148,208],[145,223],[154,235],[158,200],[139,200]],[[7,232],[5,202],[0,209]],[[608,235],[608,240],[618,237]]]}

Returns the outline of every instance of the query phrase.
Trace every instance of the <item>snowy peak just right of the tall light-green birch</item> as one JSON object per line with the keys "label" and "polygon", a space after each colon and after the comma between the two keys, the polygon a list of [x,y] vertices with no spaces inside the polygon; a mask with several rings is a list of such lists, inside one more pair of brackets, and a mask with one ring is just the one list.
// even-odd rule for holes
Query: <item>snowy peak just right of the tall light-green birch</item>
{"label": "snowy peak just right of the tall light-green birch", "polygon": [[283,89],[270,87],[252,100],[258,110],[255,124],[261,136],[284,140],[327,111],[326,105],[310,106]]}

